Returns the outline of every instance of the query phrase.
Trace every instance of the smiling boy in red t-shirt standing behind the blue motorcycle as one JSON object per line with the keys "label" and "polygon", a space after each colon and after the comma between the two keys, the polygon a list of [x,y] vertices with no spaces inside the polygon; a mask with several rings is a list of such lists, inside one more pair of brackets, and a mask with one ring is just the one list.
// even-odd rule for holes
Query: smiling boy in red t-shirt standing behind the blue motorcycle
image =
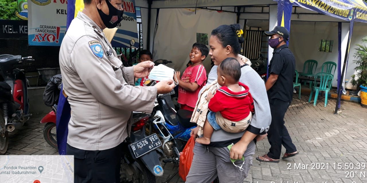
{"label": "smiling boy in red t-shirt standing behind the blue motorcycle", "polygon": [[181,104],[180,109],[194,111],[199,91],[207,81],[203,61],[208,56],[208,53],[209,49],[206,45],[201,43],[193,44],[189,54],[192,65],[186,68],[179,81],[177,81],[177,78],[180,78],[181,73],[179,71],[176,72],[174,80],[176,83],[178,82],[179,86],[178,103]]}

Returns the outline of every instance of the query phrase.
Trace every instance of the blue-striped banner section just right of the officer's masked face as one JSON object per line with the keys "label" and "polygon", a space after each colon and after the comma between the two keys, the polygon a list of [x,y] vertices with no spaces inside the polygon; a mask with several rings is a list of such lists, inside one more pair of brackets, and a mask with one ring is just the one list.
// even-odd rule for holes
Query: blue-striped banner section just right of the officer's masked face
{"label": "blue-striped banner section just right of the officer's masked face", "polygon": [[[113,47],[130,48],[139,47],[137,14],[135,9],[135,0],[123,1],[124,15],[122,21],[117,25],[115,37],[111,41]],[[134,41],[132,41],[134,40]]]}

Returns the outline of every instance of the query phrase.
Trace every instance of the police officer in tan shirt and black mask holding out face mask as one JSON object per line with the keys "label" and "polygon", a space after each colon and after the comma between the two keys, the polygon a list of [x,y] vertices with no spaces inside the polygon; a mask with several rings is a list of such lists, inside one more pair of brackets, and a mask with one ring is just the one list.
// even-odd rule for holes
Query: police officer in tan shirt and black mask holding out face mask
{"label": "police officer in tan shirt and black mask holding out face mask", "polygon": [[134,87],[135,78],[153,67],[144,61],[123,67],[103,34],[122,20],[122,0],[84,0],[84,10],[63,38],[59,61],[71,118],[66,154],[74,155],[80,182],[119,182],[122,145],[131,129],[131,111],[152,112],[156,94],[168,93],[173,81]]}

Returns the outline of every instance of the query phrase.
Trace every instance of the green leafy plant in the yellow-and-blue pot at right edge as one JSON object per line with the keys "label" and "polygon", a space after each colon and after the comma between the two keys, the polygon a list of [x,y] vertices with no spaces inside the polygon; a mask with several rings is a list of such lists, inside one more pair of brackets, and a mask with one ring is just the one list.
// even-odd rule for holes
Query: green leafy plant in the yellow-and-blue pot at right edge
{"label": "green leafy plant in the yellow-and-blue pot at right edge", "polygon": [[[367,37],[361,40],[363,43],[367,43]],[[353,62],[357,65],[354,69],[358,72],[356,76],[359,76],[357,80],[357,87],[360,85],[367,87],[367,45],[366,44],[356,44],[357,48],[354,53],[356,60]]]}

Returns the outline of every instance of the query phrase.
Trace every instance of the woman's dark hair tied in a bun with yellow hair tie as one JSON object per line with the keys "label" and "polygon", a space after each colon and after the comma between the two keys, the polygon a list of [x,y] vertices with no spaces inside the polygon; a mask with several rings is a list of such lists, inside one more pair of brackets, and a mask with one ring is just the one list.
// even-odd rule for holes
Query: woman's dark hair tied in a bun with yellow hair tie
{"label": "woman's dark hair tied in a bun with yellow hair tie", "polygon": [[221,42],[223,48],[227,45],[232,47],[234,54],[241,52],[241,44],[245,41],[243,37],[238,37],[236,31],[241,30],[241,26],[237,24],[221,25],[211,31],[212,36],[217,36],[219,42]]}

